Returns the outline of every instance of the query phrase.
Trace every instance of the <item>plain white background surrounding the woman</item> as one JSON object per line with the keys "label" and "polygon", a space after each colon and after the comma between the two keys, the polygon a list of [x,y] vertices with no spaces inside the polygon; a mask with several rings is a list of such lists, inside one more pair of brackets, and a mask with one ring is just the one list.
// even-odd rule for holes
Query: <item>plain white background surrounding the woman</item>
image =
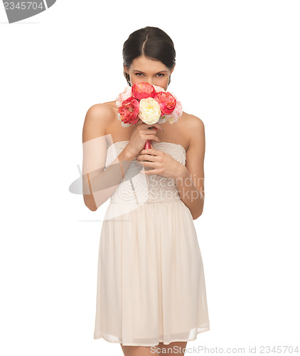
{"label": "plain white background surrounding the woman", "polygon": [[187,346],[295,347],[299,1],[58,0],[19,23],[0,16],[1,355],[122,355],[93,339],[108,201],[92,212],[69,186],[85,114],[124,89],[122,46],[144,26],[173,39],[168,90],[205,124],[194,223],[210,331]]}

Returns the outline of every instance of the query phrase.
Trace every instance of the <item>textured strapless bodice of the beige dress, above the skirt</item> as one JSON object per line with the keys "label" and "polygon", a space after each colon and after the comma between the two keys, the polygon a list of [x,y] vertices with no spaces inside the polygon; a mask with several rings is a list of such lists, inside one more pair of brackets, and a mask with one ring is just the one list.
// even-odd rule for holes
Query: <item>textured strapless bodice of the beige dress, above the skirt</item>
{"label": "textured strapless bodice of the beige dress, above the skirt", "polygon": [[[124,150],[129,141],[119,141],[107,149],[105,169],[111,164],[119,153]],[[155,142],[152,145],[156,150],[164,151],[181,164],[186,164],[186,150],[183,146],[171,142]],[[124,179],[112,194],[110,202],[114,204],[144,204],[161,201],[174,201],[181,199],[174,178],[162,177],[159,174],[139,174],[141,163],[134,159],[130,164]]]}

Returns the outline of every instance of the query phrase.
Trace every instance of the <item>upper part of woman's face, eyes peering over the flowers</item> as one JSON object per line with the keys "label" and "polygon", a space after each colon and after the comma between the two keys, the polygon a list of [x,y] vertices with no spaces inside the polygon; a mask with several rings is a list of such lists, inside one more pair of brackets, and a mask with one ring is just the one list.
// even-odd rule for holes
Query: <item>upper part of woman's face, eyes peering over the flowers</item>
{"label": "upper part of woman's face, eyes peering over the flowers", "polygon": [[168,80],[174,68],[175,65],[172,70],[170,70],[166,68],[164,63],[154,61],[144,56],[135,58],[129,68],[124,66],[125,72],[130,75],[132,85],[147,82],[153,85],[159,85],[161,88],[164,88],[164,90],[168,88]]}

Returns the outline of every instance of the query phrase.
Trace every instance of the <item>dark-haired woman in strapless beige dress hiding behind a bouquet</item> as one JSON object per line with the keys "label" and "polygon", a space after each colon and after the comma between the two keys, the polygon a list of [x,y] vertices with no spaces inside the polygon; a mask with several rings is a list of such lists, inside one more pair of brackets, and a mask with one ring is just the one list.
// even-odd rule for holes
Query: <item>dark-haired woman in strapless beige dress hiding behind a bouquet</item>
{"label": "dark-haired woman in strapless beige dress hiding behind a bouquet", "polygon": [[[127,83],[167,90],[175,54],[160,28],[134,31],[123,47]],[[210,330],[193,224],[203,212],[204,125],[183,112],[172,125],[151,126],[139,120],[122,127],[115,100],[93,105],[85,117],[85,204],[95,211],[111,198],[100,236],[94,338],[119,342],[124,355],[163,348],[183,355],[188,341]]]}

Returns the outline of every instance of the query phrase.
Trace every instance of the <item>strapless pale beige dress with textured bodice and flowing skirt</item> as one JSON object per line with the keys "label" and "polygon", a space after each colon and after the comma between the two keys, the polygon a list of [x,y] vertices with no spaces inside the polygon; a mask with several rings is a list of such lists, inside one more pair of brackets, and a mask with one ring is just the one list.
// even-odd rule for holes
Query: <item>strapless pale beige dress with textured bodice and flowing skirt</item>
{"label": "strapless pale beige dress with textured bodice and flowing skirt", "polygon": [[[109,146],[105,167],[128,142]],[[181,145],[152,145],[186,163]],[[193,217],[173,178],[140,170],[135,159],[105,213],[94,338],[136,346],[195,340],[210,324]]]}

